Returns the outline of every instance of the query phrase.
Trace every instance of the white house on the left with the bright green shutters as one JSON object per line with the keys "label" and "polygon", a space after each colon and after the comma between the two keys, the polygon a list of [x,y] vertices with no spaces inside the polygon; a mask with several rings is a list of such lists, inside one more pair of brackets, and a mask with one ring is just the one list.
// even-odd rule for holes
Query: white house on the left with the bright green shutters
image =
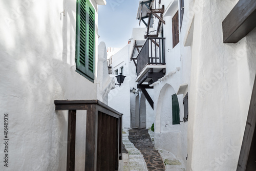
{"label": "white house on the left with the bright green shutters", "polygon": [[[98,5],[105,4],[105,0],[0,2],[0,170],[66,170],[68,112],[55,111],[54,100],[98,99],[108,104],[115,82],[97,33]],[[72,164],[84,170],[84,112],[77,111],[76,120]],[[5,146],[3,139],[8,139]]]}

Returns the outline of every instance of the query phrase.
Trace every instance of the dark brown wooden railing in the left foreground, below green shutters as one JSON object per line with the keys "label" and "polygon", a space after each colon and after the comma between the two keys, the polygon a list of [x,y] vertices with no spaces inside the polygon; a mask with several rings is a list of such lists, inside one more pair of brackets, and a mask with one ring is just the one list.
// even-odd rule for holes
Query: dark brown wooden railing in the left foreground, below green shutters
{"label": "dark brown wooden railing in the left foreground, below green shutters", "polygon": [[87,111],[85,170],[118,170],[122,160],[122,114],[98,100],[55,100],[69,110],[67,170],[75,170],[76,110]]}

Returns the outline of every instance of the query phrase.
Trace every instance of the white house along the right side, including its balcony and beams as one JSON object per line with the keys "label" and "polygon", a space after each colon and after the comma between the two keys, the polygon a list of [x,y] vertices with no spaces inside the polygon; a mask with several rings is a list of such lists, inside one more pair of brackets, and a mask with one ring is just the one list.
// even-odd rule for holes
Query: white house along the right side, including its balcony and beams
{"label": "white house along the right side, including its balcony and beams", "polygon": [[133,57],[136,82],[154,87],[155,147],[173,153],[186,170],[256,168],[255,117],[248,115],[255,9],[255,1],[244,0],[139,3],[147,39]]}

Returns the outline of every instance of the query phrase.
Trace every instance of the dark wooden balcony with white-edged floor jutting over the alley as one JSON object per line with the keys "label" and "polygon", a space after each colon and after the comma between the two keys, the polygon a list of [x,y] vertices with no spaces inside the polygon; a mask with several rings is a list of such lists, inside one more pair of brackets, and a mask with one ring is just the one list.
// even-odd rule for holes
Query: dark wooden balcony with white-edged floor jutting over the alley
{"label": "dark wooden balcony with white-edged floor jutting over the alley", "polygon": [[165,38],[148,37],[137,56],[138,84],[153,83],[165,74]]}

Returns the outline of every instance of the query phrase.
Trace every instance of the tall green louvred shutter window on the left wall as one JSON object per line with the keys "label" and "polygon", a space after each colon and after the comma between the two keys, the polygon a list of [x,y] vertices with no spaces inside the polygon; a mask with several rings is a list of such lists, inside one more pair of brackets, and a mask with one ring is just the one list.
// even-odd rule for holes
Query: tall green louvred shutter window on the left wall
{"label": "tall green louvred shutter window on the left wall", "polygon": [[89,0],[77,0],[76,72],[94,82],[95,10]]}

